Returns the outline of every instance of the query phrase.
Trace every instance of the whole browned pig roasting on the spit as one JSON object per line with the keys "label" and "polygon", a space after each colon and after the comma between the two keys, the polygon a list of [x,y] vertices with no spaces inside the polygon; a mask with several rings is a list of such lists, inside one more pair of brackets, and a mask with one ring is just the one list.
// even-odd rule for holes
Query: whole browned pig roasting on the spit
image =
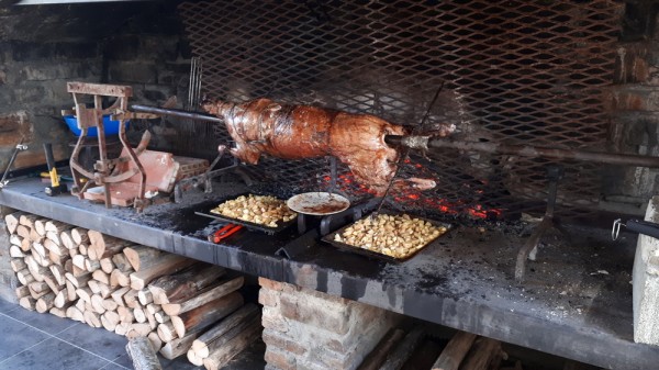
{"label": "whole browned pig roasting on the spit", "polygon": [[[404,127],[370,114],[256,99],[245,103],[204,101],[202,108],[224,120],[235,148],[231,153],[256,165],[261,154],[283,159],[335,156],[360,183],[382,195],[395,173],[398,149],[384,135],[404,135]],[[432,180],[396,180],[396,187],[434,188]]]}

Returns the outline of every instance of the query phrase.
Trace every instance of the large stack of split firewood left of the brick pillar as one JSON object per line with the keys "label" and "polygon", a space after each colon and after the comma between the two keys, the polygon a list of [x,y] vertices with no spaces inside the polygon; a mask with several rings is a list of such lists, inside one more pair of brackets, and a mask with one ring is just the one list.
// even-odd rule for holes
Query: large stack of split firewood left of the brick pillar
{"label": "large stack of split firewood left of the brick pillar", "polygon": [[147,337],[168,359],[219,369],[261,333],[243,277],[22,212],[5,216],[21,306]]}

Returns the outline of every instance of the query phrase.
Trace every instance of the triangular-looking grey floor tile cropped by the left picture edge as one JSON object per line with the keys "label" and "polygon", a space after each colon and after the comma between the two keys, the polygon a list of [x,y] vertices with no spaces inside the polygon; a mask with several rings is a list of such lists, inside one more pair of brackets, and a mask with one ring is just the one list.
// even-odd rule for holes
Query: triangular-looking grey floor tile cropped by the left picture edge
{"label": "triangular-looking grey floor tile cropped by the left picture edge", "polygon": [[3,367],[2,360],[49,337],[47,334],[16,322],[4,314],[0,314],[0,328],[2,328],[0,338],[11,338],[11,340],[0,340],[0,369],[11,369]]}

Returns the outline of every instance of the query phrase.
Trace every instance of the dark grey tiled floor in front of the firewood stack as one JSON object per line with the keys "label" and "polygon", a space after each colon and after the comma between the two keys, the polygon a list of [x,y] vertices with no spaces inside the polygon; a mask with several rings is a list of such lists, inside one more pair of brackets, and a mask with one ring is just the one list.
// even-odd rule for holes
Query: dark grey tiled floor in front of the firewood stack
{"label": "dark grey tiled floor in front of the firewood stack", "polygon": [[[125,337],[103,328],[27,311],[0,299],[0,370],[133,369],[126,343]],[[246,352],[226,369],[264,368],[261,348]],[[166,370],[203,369],[185,357],[174,361],[160,357],[160,363]]]}

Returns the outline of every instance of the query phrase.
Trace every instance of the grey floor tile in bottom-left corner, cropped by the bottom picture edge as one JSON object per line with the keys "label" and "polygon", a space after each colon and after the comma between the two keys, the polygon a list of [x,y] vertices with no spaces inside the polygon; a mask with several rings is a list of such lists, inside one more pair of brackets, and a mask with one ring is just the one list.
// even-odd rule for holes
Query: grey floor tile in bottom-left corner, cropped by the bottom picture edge
{"label": "grey floor tile in bottom-left corner, cropped by the bottom picture edge", "polygon": [[98,356],[57,338],[51,338],[0,362],[0,368],[12,370],[98,370],[108,363],[108,360]]}

